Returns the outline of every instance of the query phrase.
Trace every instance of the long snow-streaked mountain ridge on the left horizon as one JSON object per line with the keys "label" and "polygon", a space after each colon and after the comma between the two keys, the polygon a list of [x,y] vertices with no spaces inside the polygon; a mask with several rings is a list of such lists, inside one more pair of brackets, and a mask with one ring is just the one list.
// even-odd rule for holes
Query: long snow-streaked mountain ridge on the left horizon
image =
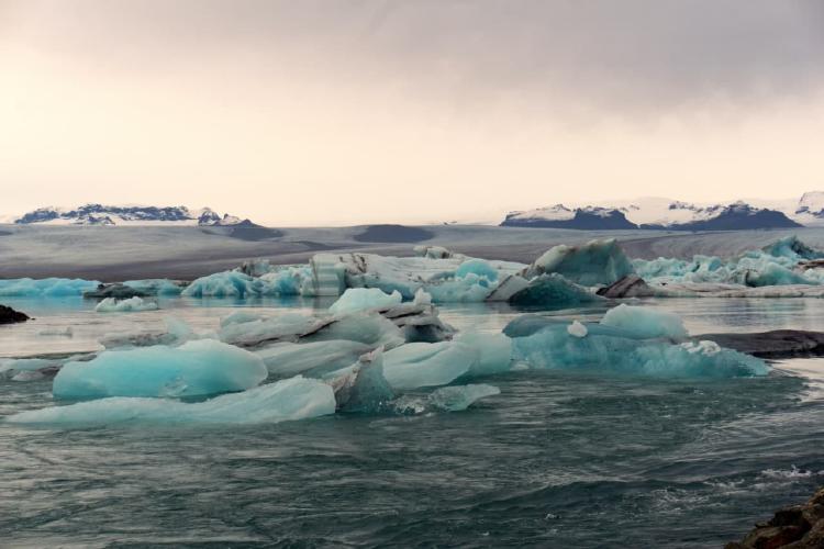
{"label": "long snow-streaked mountain ridge on the left horizon", "polygon": [[[19,225],[200,225],[232,226],[244,221],[234,215],[220,215],[209,208],[186,206],[116,206],[85,204],[76,209],[40,208],[14,220]],[[249,222],[250,223],[250,222]]]}

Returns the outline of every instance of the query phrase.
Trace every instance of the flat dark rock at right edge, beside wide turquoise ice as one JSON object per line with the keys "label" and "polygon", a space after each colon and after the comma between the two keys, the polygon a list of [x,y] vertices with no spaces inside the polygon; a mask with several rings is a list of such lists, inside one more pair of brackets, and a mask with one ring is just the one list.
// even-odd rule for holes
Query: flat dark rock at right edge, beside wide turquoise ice
{"label": "flat dark rock at right edge, beside wide turquoise ice", "polygon": [[824,356],[824,332],[775,329],[754,334],[703,334],[695,339],[710,339],[722,347],[759,358]]}

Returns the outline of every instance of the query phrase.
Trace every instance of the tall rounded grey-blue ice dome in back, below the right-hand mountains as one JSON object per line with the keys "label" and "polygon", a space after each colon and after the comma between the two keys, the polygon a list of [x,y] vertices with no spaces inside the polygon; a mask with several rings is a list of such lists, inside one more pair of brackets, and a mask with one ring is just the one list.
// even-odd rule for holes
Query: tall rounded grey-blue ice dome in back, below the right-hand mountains
{"label": "tall rounded grey-blue ice dome in back, below the right-hand mountains", "polygon": [[581,246],[559,245],[537,258],[526,278],[557,272],[582,285],[611,284],[634,272],[614,238],[590,240]]}

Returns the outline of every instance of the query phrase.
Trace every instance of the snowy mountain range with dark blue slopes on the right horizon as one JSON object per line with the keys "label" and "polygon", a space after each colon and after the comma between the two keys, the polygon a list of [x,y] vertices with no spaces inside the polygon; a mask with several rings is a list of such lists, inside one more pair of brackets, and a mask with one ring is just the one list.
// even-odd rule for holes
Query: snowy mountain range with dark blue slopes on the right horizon
{"label": "snowy mountain range with dark blue slopes on the right horizon", "polygon": [[741,200],[726,204],[695,204],[644,198],[603,204],[556,204],[512,212],[502,226],[582,229],[666,228],[669,231],[735,231],[824,226],[824,192],[800,200]]}

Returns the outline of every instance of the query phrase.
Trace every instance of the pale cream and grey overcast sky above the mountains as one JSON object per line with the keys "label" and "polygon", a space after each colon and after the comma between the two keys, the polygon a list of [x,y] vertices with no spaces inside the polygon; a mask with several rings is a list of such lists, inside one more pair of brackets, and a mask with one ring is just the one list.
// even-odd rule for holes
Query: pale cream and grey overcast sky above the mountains
{"label": "pale cream and grey overcast sky above the mountains", "polygon": [[0,216],[824,190],[820,0],[0,0]]}

